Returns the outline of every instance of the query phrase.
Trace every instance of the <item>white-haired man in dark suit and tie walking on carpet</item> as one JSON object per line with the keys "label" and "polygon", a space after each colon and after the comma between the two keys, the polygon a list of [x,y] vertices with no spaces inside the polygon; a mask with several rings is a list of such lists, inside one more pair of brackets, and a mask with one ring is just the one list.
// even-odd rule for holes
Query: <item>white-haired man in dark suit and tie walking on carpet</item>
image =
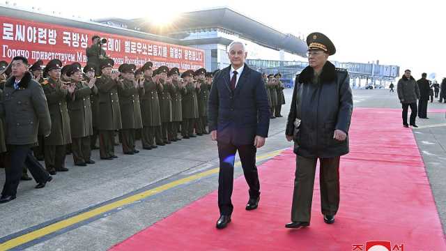
{"label": "white-haired man in dark suit and tie walking on carpet", "polygon": [[243,173],[249,185],[246,210],[257,208],[260,199],[256,149],[265,144],[270,126],[270,109],[261,73],[245,64],[245,45],[233,42],[228,56],[231,66],[220,70],[213,80],[208,104],[209,130],[217,140],[220,158],[217,228],[231,222],[233,205],[233,170],[236,151],[240,155]]}

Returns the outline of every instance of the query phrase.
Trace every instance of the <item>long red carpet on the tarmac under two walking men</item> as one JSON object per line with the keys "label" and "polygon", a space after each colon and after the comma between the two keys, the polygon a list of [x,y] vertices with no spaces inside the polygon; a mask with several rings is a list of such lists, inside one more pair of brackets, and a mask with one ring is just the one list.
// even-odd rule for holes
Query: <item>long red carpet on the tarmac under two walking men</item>
{"label": "long red carpet on the tarmac under two walking men", "polygon": [[295,155],[286,150],[259,167],[257,210],[245,211],[247,185],[243,177],[236,179],[233,222],[226,229],[215,229],[219,213],[212,192],[112,250],[360,251],[367,241],[390,241],[392,248],[403,244],[392,251],[446,250],[424,164],[412,131],[401,126],[401,111],[355,109],[350,137],[351,153],[341,158],[341,204],[333,225],[320,213],[317,176],[311,226],[284,228],[295,172]]}

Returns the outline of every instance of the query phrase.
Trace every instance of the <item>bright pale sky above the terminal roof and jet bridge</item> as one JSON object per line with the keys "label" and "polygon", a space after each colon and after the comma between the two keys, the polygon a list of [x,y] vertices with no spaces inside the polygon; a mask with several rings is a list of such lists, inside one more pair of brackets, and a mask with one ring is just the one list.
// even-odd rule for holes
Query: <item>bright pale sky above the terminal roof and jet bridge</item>
{"label": "bright pale sky above the terminal roof and jet bridge", "polygon": [[[227,6],[284,33],[307,36],[318,31],[337,47],[329,60],[398,65],[401,72],[412,70],[415,79],[421,73],[446,77],[446,1],[66,1],[16,0],[22,8],[40,8],[45,13],[66,17],[97,19],[102,17],[174,16],[175,13]],[[160,16],[160,13],[170,13]],[[248,51],[249,53],[249,51]],[[401,73],[400,73],[401,75]]]}

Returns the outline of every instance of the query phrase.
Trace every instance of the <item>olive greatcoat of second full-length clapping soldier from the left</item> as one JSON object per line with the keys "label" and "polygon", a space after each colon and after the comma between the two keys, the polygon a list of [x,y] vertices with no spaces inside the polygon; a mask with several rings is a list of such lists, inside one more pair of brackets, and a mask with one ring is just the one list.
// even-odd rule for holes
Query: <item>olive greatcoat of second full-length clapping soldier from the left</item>
{"label": "olive greatcoat of second full-length clapping soldier from the left", "polygon": [[72,83],[76,85],[75,93],[68,100],[70,113],[71,137],[73,139],[93,135],[93,117],[90,95],[98,93],[96,86],[92,89],[85,83]]}

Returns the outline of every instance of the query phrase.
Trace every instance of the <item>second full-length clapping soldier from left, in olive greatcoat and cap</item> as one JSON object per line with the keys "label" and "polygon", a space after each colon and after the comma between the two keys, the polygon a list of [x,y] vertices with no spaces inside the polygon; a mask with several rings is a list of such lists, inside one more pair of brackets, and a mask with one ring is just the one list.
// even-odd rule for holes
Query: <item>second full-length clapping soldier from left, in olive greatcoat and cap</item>
{"label": "second full-length clapping soldier from left, in olive greatcoat and cap", "polygon": [[82,81],[80,63],[72,63],[68,68],[68,77],[71,78],[70,86],[75,86],[75,91],[68,100],[70,114],[70,129],[72,138],[72,158],[77,166],[94,164],[91,160],[90,136],[93,135],[93,121],[91,115],[91,93],[98,93],[95,86],[95,77],[89,82]]}

